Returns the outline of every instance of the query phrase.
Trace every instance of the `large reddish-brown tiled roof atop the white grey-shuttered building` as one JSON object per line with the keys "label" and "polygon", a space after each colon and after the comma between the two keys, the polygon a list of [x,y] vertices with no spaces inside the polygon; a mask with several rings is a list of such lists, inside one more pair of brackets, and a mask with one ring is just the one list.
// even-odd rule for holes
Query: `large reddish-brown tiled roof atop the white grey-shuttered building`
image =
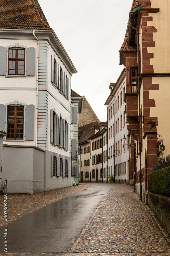
{"label": "large reddish-brown tiled roof atop the white grey-shuttered building", "polygon": [[52,30],[37,0],[0,0],[0,28]]}

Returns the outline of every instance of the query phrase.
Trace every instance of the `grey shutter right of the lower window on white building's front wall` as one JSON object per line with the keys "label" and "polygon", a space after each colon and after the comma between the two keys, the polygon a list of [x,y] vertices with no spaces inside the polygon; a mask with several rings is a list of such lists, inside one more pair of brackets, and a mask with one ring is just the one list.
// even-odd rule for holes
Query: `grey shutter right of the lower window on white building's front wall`
{"label": "grey shutter right of the lower window on white building's front wall", "polygon": [[33,141],[34,140],[34,115],[35,115],[35,106],[26,105],[25,106],[25,140]]}

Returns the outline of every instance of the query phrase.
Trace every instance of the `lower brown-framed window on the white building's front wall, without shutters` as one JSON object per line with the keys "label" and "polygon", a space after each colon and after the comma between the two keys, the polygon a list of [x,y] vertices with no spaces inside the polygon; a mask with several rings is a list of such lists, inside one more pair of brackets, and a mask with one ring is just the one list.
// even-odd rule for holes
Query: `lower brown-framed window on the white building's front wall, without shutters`
{"label": "lower brown-framed window on the white building's front wall, without shutters", "polygon": [[7,140],[23,140],[24,106],[7,107]]}

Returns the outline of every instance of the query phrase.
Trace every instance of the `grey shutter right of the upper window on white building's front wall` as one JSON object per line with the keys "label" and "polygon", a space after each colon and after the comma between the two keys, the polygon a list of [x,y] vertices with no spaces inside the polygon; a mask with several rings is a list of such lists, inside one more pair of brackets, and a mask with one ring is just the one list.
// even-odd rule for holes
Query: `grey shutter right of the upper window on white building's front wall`
{"label": "grey shutter right of the upper window on white building's front wall", "polygon": [[35,47],[27,48],[27,76],[35,76]]}

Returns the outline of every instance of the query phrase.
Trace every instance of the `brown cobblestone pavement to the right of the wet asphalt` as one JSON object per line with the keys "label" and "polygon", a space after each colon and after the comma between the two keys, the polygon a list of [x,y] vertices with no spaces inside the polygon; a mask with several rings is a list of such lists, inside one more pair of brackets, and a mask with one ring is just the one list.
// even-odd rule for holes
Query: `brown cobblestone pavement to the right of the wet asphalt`
{"label": "brown cobblestone pavement to the right of the wet asphalt", "polygon": [[150,208],[133,193],[133,187],[113,184],[68,252],[0,253],[4,255],[169,256],[170,237]]}

